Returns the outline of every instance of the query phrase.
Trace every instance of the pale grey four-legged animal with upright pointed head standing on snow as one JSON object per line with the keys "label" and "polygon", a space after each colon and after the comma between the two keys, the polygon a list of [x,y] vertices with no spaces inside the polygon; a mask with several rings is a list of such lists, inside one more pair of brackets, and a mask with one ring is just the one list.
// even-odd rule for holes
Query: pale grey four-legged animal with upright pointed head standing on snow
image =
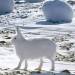
{"label": "pale grey four-legged animal with upright pointed head standing on snow", "polygon": [[[17,35],[12,39],[12,43],[15,46],[16,54],[20,58],[20,62],[16,69],[19,69],[21,66],[22,61],[25,59],[25,70],[27,70],[27,59],[29,58],[41,58],[41,57],[48,57],[52,62],[51,70],[54,70],[54,60],[56,56],[56,44],[49,39],[46,38],[37,38],[26,40],[22,33],[20,32],[19,28],[17,27]],[[39,70],[43,62],[41,60]]]}

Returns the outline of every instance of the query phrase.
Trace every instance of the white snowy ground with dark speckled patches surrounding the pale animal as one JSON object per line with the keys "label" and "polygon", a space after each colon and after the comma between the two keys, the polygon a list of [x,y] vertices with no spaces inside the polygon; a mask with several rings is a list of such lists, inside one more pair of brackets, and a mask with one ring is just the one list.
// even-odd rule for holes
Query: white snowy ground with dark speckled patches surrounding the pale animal
{"label": "white snowy ground with dark speckled patches surrounding the pale animal", "polygon": [[[13,69],[18,65],[19,58],[15,54],[11,39],[5,38],[15,36],[15,26],[20,26],[26,39],[45,37],[56,42],[55,71],[68,69],[75,72],[75,18],[71,23],[64,24],[46,22],[41,10],[42,5],[42,2],[15,4],[12,13],[0,15],[0,40],[6,41],[6,44],[0,43],[0,68]],[[73,10],[75,10],[74,8],[75,6],[73,6]],[[49,71],[50,61],[47,59],[44,61],[43,70]],[[38,64],[38,59],[30,59],[28,69],[34,70]],[[24,62],[21,68],[23,67]]]}

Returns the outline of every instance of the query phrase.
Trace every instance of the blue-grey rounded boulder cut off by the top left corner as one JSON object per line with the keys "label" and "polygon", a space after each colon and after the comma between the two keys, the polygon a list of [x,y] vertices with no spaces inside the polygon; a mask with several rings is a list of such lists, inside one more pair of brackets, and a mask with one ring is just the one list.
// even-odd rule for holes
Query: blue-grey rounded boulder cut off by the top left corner
{"label": "blue-grey rounded boulder cut off by the top left corner", "polygon": [[9,13],[13,10],[13,0],[0,0],[0,14]]}

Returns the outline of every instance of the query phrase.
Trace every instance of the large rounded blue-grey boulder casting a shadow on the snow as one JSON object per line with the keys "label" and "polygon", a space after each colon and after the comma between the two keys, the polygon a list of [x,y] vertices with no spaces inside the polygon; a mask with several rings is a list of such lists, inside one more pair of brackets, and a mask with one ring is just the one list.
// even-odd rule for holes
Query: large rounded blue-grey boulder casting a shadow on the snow
{"label": "large rounded blue-grey boulder casting a shadow on the snow", "polygon": [[48,21],[52,22],[71,22],[73,11],[69,4],[54,0],[44,3],[43,12]]}

